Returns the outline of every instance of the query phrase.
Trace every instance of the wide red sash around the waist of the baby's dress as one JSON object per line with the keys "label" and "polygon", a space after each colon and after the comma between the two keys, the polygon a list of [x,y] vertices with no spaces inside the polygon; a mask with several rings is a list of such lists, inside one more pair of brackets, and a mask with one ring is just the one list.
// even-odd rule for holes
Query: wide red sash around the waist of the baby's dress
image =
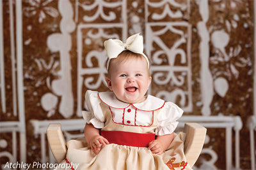
{"label": "wide red sash around the waist of the baby's dress", "polygon": [[148,147],[148,143],[156,139],[155,134],[140,134],[124,131],[100,131],[100,134],[108,139],[109,143],[136,147]]}

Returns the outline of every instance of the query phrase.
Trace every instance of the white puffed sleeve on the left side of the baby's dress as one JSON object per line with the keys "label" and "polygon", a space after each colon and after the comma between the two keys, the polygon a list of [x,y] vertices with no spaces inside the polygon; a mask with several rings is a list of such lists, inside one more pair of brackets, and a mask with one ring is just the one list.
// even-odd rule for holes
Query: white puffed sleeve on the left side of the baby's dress
{"label": "white puffed sleeve on the left side of the baby's dress", "polygon": [[100,108],[98,92],[87,90],[85,94],[85,102],[88,111],[82,111],[82,114],[86,123],[93,124],[93,126],[98,129],[104,127],[104,115]]}

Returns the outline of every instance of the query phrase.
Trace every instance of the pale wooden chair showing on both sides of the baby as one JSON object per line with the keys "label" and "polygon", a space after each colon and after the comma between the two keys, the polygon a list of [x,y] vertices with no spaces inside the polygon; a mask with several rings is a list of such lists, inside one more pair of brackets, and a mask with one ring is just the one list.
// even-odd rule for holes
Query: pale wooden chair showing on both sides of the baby
{"label": "pale wooden chair showing on both sides of the baby", "polygon": [[[186,141],[184,143],[185,157],[189,166],[193,167],[204,146],[206,129],[197,123],[186,123],[184,132],[186,133]],[[67,145],[61,131],[61,124],[49,124],[47,127],[47,139],[52,154],[57,162],[60,163],[65,159],[67,153]]]}

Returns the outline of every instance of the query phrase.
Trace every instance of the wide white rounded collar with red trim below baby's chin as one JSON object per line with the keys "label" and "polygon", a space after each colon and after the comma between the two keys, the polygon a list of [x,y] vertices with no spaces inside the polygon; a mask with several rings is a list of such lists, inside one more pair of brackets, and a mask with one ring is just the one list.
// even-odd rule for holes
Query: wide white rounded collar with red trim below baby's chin
{"label": "wide white rounded collar with red trim below baby's chin", "polygon": [[116,96],[113,92],[99,92],[98,96],[100,101],[107,104],[109,107],[116,108],[116,109],[124,109],[132,105],[134,106],[134,108],[137,108],[138,110],[154,111],[154,110],[159,110],[163,108],[165,104],[164,100],[151,95],[148,95],[147,99],[142,103],[135,103],[135,104],[124,103],[116,99]]}

